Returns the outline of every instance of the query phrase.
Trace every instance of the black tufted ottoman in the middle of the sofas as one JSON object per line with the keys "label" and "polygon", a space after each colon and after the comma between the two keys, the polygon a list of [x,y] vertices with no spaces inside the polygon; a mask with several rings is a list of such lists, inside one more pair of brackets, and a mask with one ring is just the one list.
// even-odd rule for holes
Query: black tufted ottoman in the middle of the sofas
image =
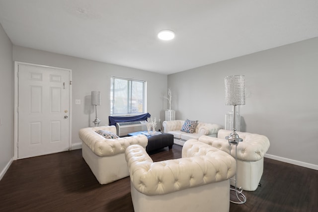
{"label": "black tufted ottoman in the middle of the sofas", "polygon": [[173,135],[167,133],[156,133],[156,135],[149,135],[147,132],[136,132],[130,133],[128,136],[137,136],[137,135],[145,135],[148,138],[148,145],[146,146],[146,151],[151,152],[160,148],[164,148],[166,146],[169,149],[172,148],[173,145]]}

